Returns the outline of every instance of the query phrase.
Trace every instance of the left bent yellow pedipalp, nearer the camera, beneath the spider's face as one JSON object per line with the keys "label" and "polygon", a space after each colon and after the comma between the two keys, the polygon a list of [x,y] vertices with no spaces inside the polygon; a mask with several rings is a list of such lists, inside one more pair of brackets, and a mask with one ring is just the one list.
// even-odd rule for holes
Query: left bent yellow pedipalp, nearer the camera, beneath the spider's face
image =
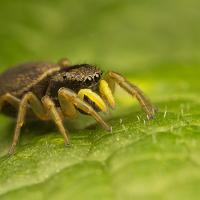
{"label": "left bent yellow pedipalp, nearer the camera, beneath the spider's face", "polygon": [[88,97],[92,102],[94,102],[103,112],[108,112],[108,108],[106,106],[106,104],[104,103],[103,99],[96,94],[95,92],[93,92],[90,89],[81,89],[78,92],[78,96],[81,99],[84,99],[84,96]]}

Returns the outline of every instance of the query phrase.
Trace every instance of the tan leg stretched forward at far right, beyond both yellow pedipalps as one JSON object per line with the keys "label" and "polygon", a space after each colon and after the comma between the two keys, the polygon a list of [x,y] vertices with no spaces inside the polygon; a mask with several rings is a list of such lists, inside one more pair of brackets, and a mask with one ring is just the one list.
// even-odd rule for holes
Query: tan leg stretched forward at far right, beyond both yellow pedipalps
{"label": "tan leg stretched forward at far right, beyond both yellow pedipalps", "polygon": [[130,83],[122,75],[116,72],[109,72],[107,77],[118,83],[124,90],[126,90],[130,95],[135,96],[139,101],[141,107],[146,112],[148,119],[152,119],[155,115],[155,108],[148,100],[148,98],[143,94],[142,90],[136,85]]}

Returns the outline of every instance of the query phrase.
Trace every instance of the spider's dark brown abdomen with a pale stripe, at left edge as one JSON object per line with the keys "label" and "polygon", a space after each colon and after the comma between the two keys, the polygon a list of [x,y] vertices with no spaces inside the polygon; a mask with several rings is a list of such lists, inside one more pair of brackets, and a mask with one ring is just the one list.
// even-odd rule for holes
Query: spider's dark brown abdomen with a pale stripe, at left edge
{"label": "spider's dark brown abdomen with a pale stripe, at left edge", "polygon": [[[29,91],[42,98],[48,87],[49,77],[60,70],[57,64],[45,62],[26,63],[7,70],[0,75],[0,96],[10,93],[21,99]],[[5,103],[2,113],[15,117],[17,110]],[[29,111],[29,115],[32,114]]]}

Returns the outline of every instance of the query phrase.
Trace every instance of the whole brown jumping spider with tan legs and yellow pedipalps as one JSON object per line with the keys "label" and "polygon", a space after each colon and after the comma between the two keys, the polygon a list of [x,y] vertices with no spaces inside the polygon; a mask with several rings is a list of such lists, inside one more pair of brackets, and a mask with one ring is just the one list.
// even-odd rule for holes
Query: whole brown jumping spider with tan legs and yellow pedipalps
{"label": "whole brown jumping spider with tan legs and yellow pedipalps", "polygon": [[112,71],[103,77],[102,71],[93,65],[70,65],[67,59],[62,59],[58,64],[21,64],[2,73],[0,110],[17,117],[9,153],[15,150],[26,114],[27,118],[34,115],[41,120],[53,120],[66,144],[69,144],[68,131],[62,118],[74,118],[77,110],[91,115],[104,129],[111,131],[97,112],[115,107],[115,83],[136,97],[148,119],[153,118],[155,109],[137,86]]}

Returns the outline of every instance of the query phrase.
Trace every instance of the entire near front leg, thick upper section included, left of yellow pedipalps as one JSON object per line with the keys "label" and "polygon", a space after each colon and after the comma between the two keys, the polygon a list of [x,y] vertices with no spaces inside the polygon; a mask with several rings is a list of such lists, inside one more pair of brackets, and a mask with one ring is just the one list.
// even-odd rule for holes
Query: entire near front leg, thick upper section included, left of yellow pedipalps
{"label": "entire near front leg, thick upper section included, left of yellow pedipalps", "polygon": [[[85,92],[87,93],[87,91]],[[67,88],[61,88],[58,91],[58,98],[61,104],[61,109],[65,115],[74,116],[76,107],[84,111],[85,113],[91,115],[105,130],[112,130],[112,128],[101,118],[101,116],[72,90],[69,90]],[[70,112],[67,111],[66,105],[70,106]]]}

